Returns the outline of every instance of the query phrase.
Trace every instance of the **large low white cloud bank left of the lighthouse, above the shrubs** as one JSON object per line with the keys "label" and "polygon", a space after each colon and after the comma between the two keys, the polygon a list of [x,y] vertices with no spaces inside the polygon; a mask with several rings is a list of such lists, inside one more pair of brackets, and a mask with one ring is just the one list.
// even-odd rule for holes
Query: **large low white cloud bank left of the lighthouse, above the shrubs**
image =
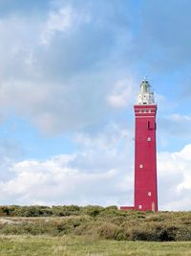
{"label": "large low white cloud bank left of the lighthouse, above the shrubs", "polygon": [[0,184],[1,201],[49,205],[131,202],[133,164],[126,147],[130,134],[126,133],[111,126],[96,137],[79,134],[75,139],[80,148],[75,154],[9,163],[4,172],[10,177]]}

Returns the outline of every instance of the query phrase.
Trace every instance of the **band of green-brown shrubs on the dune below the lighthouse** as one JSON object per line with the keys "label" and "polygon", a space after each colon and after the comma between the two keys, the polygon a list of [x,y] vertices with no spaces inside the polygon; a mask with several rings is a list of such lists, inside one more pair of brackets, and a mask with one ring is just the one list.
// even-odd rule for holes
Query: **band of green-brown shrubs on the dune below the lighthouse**
{"label": "band of green-brown shrubs on the dune below the lighthouse", "polygon": [[[74,235],[117,241],[191,241],[191,212],[120,211],[117,206],[1,206],[0,234]],[[21,218],[22,217],[22,218]]]}

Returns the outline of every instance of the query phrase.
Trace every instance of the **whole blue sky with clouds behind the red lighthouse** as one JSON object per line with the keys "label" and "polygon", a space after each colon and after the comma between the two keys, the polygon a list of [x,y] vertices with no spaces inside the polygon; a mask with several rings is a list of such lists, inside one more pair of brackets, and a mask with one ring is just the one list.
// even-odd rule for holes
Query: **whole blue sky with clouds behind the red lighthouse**
{"label": "whole blue sky with clouds behind the red lighthouse", "polygon": [[147,76],[159,210],[191,209],[190,9],[0,0],[0,204],[133,204],[133,105]]}

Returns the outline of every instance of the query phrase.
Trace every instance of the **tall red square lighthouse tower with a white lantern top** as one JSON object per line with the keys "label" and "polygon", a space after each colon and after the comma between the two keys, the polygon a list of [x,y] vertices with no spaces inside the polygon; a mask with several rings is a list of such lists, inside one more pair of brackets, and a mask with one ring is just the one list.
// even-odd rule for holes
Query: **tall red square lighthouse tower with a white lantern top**
{"label": "tall red square lighthouse tower with a white lantern top", "polygon": [[158,211],[156,114],[154,92],[148,81],[140,83],[135,110],[135,191],[134,206],[121,210]]}

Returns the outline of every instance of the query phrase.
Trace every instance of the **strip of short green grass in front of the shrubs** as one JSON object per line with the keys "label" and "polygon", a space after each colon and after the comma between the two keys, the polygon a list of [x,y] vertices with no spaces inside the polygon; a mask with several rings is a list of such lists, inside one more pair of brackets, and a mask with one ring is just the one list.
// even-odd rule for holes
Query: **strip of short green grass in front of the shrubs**
{"label": "strip of short green grass in front of the shrubs", "polygon": [[191,256],[191,242],[127,242],[71,236],[0,236],[0,255]]}

